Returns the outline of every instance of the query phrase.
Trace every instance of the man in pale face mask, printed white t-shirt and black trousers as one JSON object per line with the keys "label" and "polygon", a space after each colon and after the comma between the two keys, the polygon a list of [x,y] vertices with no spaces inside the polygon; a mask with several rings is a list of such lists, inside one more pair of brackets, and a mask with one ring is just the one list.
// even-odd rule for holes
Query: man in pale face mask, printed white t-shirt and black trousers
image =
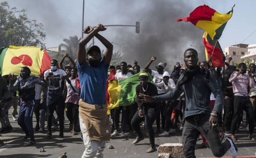
{"label": "man in pale face mask, printed white t-shirt and black trousers", "polygon": [[64,137],[64,99],[61,90],[61,80],[66,79],[68,83],[71,83],[67,77],[67,73],[57,68],[58,61],[52,59],[51,61],[51,69],[44,72],[44,78],[49,82],[48,91],[47,91],[47,128],[48,133],[46,135],[47,138],[51,138],[52,136],[52,116],[54,110],[57,113],[59,119],[60,126],[60,134],[58,138]]}

